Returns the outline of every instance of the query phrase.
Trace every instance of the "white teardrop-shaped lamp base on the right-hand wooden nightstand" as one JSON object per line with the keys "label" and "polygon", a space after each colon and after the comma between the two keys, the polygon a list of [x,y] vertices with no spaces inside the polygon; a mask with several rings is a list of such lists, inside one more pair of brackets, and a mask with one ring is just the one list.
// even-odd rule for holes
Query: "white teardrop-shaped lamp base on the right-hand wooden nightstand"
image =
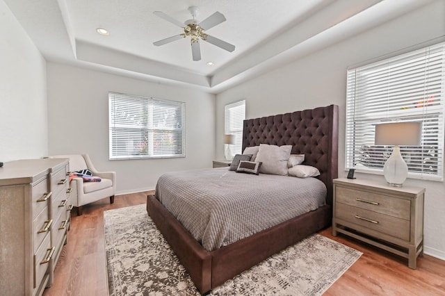
{"label": "white teardrop-shaped lamp base on the right-hand wooden nightstand", "polygon": [[402,158],[401,149],[394,147],[391,156],[389,156],[385,167],[383,167],[383,175],[391,186],[402,187],[408,176],[408,166]]}

